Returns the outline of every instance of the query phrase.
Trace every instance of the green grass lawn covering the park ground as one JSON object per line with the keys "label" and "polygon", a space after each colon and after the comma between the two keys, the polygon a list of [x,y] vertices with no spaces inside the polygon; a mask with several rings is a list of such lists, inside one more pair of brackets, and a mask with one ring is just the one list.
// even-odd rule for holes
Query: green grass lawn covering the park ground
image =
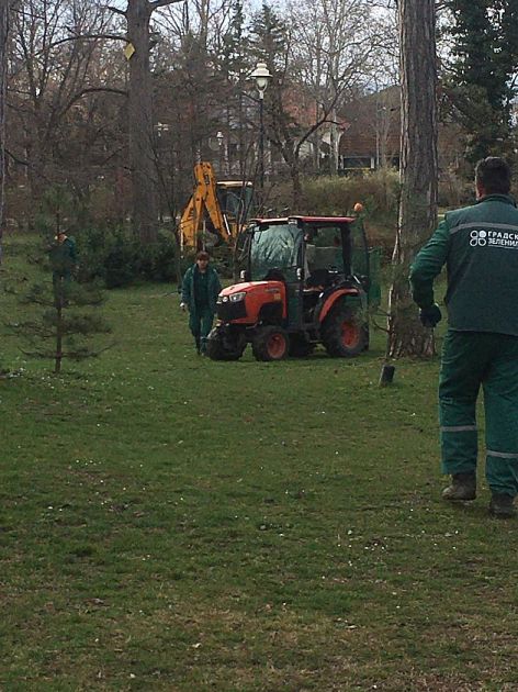
{"label": "green grass lawn covering the park ground", "polygon": [[2,333],[0,689],[518,689],[517,524],[440,501],[438,360],[212,362],[172,290],[59,377]]}

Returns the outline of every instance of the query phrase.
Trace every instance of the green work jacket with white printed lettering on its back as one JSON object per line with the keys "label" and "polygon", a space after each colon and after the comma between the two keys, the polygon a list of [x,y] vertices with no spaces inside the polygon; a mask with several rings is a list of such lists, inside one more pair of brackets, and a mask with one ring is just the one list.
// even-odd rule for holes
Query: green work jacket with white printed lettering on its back
{"label": "green work jacket with white printed lettering on its back", "polygon": [[518,209],[506,194],[448,212],[410,268],[419,308],[433,303],[446,264],[451,330],[518,336]]}

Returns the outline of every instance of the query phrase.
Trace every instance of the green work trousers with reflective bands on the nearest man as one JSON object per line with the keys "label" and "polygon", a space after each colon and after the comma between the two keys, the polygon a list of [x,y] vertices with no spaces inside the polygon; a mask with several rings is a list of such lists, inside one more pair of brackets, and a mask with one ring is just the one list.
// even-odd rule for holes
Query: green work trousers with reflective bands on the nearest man
{"label": "green work trousers with reflective bands on the nearest man", "polygon": [[518,493],[518,336],[450,330],[439,378],[444,473],[476,470],[476,399],[481,387],[487,484],[493,492],[514,498]]}

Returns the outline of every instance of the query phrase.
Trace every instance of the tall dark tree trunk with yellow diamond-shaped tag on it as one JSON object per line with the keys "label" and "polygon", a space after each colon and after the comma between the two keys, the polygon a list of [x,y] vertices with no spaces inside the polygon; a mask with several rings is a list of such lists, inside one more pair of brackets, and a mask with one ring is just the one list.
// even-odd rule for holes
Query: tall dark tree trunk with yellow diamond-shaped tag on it
{"label": "tall dark tree trunk with yellow diamond-shaped tag on it", "polygon": [[149,70],[148,0],[128,0],[127,40],[135,48],[130,58],[128,134],[133,181],[133,226],[143,243],[157,238],[158,179],[154,154],[153,82]]}

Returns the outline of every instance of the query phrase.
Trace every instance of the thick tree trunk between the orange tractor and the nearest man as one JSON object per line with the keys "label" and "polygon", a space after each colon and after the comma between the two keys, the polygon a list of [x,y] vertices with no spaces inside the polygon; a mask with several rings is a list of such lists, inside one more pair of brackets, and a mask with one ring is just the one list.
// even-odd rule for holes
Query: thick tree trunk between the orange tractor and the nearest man
{"label": "thick tree trunk between the orange tractor and the nearest man", "polygon": [[409,266],[437,222],[435,0],[399,0],[401,202],[388,301],[387,356],[429,356],[433,337],[413,304]]}

